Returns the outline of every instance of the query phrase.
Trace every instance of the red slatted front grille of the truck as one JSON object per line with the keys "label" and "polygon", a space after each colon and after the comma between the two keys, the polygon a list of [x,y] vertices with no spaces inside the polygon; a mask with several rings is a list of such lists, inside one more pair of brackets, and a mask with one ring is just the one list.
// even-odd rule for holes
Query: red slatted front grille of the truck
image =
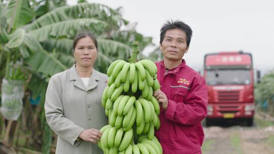
{"label": "red slatted front grille of the truck", "polygon": [[239,101],[239,91],[219,91],[218,99],[220,102],[235,103]]}

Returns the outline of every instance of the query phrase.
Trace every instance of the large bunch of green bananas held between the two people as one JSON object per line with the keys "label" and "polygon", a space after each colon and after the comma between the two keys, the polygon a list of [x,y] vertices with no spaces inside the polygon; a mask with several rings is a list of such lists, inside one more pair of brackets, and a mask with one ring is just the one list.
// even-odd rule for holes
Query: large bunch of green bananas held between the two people
{"label": "large bunch of green bananas held between the two people", "polygon": [[160,127],[160,106],[153,96],[160,89],[157,67],[147,59],[136,62],[138,53],[133,46],[130,62],[116,60],[107,71],[108,86],[101,103],[109,125],[101,128],[98,142],[106,154],[162,153],[154,136],[154,129]]}

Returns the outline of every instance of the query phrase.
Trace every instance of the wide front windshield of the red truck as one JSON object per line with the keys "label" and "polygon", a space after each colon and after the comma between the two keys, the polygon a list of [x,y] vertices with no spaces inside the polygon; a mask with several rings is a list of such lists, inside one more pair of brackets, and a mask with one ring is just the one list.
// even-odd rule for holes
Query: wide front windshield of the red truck
{"label": "wide front windshield of the red truck", "polygon": [[207,70],[208,85],[249,85],[251,73],[248,69]]}

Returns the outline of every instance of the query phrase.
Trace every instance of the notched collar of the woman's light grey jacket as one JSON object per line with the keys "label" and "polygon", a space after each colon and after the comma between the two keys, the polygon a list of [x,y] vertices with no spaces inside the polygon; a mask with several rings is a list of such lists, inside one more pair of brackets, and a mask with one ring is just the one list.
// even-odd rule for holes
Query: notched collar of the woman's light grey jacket
{"label": "notched collar of the woman's light grey jacket", "polygon": [[72,66],[72,68],[70,68],[70,80],[75,81],[74,82],[75,87],[78,87],[79,89],[82,89],[82,90],[85,90],[85,91],[89,91],[89,90],[92,90],[92,89],[94,89],[95,87],[98,86],[97,81],[99,81],[100,78],[99,78],[98,72],[95,69],[92,70],[92,73],[91,73],[90,78],[89,78],[88,85],[86,87],[84,85],[82,79],[80,78],[75,66],[76,66],[76,64],[74,64]]}

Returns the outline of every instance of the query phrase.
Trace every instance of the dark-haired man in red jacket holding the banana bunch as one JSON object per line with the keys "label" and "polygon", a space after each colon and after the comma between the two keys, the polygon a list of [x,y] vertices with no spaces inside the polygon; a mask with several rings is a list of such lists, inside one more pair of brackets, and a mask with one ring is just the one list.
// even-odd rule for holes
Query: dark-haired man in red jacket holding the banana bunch
{"label": "dark-haired man in red jacket holding the banana bunch", "polygon": [[154,96],[161,104],[161,126],[155,136],[164,154],[201,153],[208,93],[202,76],[182,59],[191,36],[191,28],[181,21],[168,21],[161,28],[163,60],[156,63],[161,89]]}

